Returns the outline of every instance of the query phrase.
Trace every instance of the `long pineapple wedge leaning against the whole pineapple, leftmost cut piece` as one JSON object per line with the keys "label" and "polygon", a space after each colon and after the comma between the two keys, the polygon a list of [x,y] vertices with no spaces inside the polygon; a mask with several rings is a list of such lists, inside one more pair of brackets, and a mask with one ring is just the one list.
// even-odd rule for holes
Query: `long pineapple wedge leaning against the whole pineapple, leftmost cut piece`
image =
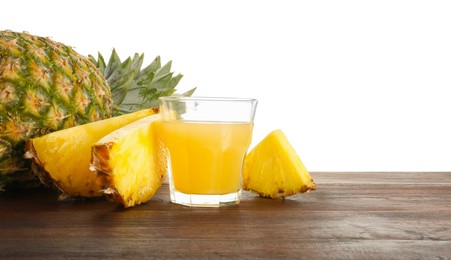
{"label": "long pineapple wedge leaning against the whole pineapple, leftmost cut piece", "polygon": [[96,175],[89,170],[91,146],[108,133],[157,112],[144,109],[30,139],[25,157],[32,159],[33,171],[43,184],[61,191],[59,199],[103,196]]}

